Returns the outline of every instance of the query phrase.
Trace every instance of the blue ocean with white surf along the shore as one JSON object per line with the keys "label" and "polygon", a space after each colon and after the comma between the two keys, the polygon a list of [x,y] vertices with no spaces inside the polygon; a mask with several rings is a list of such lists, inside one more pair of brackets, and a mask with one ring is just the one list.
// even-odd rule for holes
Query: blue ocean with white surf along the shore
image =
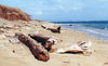
{"label": "blue ocean with white surf along the shore", "polygon": [[52,22],[60,24],[63,27],[78,31],[84,31],[91,37],[108,41],[108,22]]}

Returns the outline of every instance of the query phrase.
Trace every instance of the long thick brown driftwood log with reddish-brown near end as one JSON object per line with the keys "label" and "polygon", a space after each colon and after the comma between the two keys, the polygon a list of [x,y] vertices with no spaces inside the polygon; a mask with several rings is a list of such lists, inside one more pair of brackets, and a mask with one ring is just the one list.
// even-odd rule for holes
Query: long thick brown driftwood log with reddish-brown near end
{"label": "long thick brown driftwood log with reddish-brown near end", "polygon": [[40,43],[37,43],[37,41],[31,39],[29,36],[18,34],[18,39],[21,42],[25,43],[30,49],[33,56],[39,61],[46,62],[50,60],[49,52]]}

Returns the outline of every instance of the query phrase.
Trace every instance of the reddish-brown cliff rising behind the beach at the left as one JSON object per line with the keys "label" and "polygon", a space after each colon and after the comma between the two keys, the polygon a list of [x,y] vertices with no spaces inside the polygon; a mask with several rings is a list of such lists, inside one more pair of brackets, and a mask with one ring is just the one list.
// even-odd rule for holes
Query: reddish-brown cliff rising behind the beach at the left
{"label": "reddish-brown cliff rising behind the beach at the left", "polygon": [[29,15],[21,11],[19,9],[14,9],[2,4],[0,4],[0,17],[9,21],[31,21]]}

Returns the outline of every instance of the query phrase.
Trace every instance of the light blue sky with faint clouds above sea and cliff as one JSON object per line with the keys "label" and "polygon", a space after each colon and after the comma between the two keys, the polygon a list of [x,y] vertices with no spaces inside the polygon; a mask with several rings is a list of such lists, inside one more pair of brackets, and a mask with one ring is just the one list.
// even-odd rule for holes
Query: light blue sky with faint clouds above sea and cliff
{"label": "light blue sky with faint clouds above sea and cliff", "polygon": [[108,0],[0,0],[32,19],[48,22],[108,21]]}

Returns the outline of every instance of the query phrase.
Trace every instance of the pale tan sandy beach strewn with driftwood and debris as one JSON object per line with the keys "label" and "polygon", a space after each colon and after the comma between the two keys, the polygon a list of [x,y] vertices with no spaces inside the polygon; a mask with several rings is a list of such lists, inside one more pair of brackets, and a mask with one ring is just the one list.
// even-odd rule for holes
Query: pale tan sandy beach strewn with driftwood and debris
{"label": "pale tan sandy beach strewn with driftwood and debris", "polygon": [[[89,37],[85,32],[62,28],[60,34],[54,34],[41,27],[46,22],[9,22],[0,18],[0,66],[108,66],[108,42]],[[2,26],[2,27],[1,27]],[[10,28],[13,27],[13,28]],[[78,41],[92,41],[92,54],[57,54],[50,53],[48,62],[33,57],[29,49],[14,38],[15,32],[40,34],[59,40],[53,48],[77,43]],[[62,41],[62,42],[60,42]]]}

